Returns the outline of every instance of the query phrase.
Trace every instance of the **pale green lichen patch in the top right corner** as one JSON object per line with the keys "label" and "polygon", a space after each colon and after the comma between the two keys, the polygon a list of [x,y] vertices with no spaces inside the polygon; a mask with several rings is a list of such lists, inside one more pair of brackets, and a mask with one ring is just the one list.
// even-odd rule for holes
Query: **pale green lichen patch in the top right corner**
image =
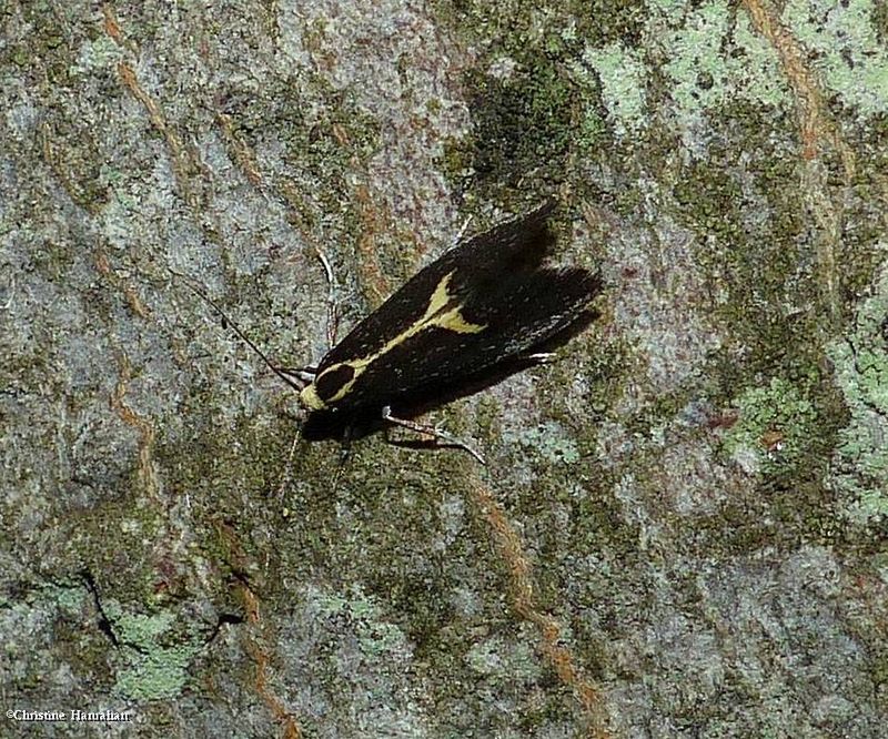
{"label": "pale green lichen patch in the top right corner", "polygon": [[888,49],[875,27],[876,0],[790,0],[783,20],[813,52],[824,83],[862,115],[888,110]]}

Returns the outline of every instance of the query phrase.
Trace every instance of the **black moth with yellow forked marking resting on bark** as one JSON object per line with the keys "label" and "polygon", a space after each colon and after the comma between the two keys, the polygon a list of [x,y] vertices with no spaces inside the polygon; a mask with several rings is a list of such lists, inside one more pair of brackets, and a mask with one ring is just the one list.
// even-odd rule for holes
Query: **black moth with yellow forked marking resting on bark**
{"label": "black moth with yellow forked marking resting on bark", "polygon": [[553,209],[547,201],[445,252],[315,367],[276,367],[231,325],[299,391],[307,411],[303,437],[347,442],[395,424],[483,462],[467,444],[411,418],[551,358],[543,350],[594,320],[591,303],[602,290],[599,275],[545,263],[555,242],[548,227]]}

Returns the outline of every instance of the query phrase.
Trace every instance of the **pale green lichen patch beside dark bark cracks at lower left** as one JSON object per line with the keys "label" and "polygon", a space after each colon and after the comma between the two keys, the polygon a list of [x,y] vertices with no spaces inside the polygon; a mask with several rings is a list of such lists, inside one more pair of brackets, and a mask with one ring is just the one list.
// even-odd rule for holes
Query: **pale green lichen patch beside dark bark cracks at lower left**
{"label": "pale green lichen patch beside dark bark cracks at lower left", "polygon": [[191,637],[182,641],[180,635],[172,634],[175,617],[171,613],[129,614],[114,600],[103,607],[120,656],[114,692],[130,700],[160,700],[179,695],[201,640]]}

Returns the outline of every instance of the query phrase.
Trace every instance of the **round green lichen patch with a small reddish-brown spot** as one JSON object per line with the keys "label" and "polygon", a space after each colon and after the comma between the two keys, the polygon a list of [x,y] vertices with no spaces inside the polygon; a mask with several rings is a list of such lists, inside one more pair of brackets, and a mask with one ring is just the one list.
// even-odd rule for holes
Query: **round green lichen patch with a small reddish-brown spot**
{"label": "round green lichen patch with a small reddish-brown spot", "polygon": [[801,462],[813,441],[817,412],[795,384],[773,377],[734,401],[737,422],[723,448],[749,472],[773,473]]}

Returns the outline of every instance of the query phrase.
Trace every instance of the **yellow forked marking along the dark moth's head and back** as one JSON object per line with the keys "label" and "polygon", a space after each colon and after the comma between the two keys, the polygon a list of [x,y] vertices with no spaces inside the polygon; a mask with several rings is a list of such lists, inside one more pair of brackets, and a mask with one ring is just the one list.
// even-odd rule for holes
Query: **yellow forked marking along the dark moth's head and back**
{"label": "yellow forked marking along the dark moth's head and back", "polygon": [[[415,336],[420,332],[425,331],[426,328],[437,326],[440,328],[446,328],[447,331],[454,331],[457,334],[476,334],[480,331],[484,331],[487,327],[487,324],[480,325],[476,323],[470,323],[463,317],[463,314],[461,313],[463,307],[462,305],[454,305],[447,311],[444,310],[453,301],[453,296],[447,291],[447,285],[450,284],[451,277],[453,277],[453,272],[448,272],[446,275],[444,275],[441,282],[437,283],[437,287],[435,287],[435,291],[432,293],[432,297],[428,298],[428,307],[425,308],[423,317],[413,325],[407,326],[397,336],[389,341],[379,352],[359,360],[337,362],[336,364],[333,364],[324,370],[321,375],[314,378],[314,383],[304,387],[299,394],[299,399],[302,405],[311,411],[322,411],[331,403],[341,401],[352,389],[354,383],[364,373],[370,364],[391,352],[395,346],[403,344],[405,341],[412,336]],[[317,395],[317,389],[315,388],[317,378],[327,372],[333,372],[343,366],[352,367],[352,370],[354,370],[354,375],[333,397],[329,398],[327,401],[322,399]]]}

